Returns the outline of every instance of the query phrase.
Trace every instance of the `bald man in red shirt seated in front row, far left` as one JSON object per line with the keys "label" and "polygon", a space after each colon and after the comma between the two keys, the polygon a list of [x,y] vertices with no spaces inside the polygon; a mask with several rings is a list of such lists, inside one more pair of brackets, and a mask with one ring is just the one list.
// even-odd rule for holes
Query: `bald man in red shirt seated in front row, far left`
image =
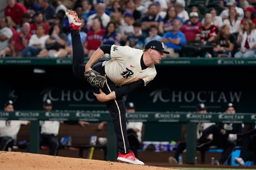
{"label": "bald man in red shirt seated in front row, far left", "polygon": [[28,46],[28,40],[30,37],[30,25],[28,22],[25,22],[22,26],[22,31],[15,32],[12,35],[10,47],[6,47],[0,51],[0,56],[20,57],[21,51]]}

